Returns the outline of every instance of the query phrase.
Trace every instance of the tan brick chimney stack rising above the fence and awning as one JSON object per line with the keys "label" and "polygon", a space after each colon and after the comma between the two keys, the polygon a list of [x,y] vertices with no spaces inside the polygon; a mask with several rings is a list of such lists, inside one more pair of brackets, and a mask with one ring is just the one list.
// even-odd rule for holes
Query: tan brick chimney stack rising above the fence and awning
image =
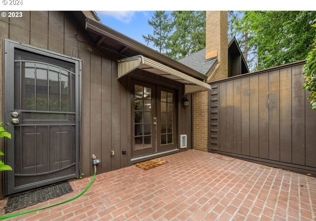
{"label": "tan brick chimney stack rising above the fence and awning", "polygon": [[217,65],[208,75],[208,82],[228,77],[228,13],[206,11],[205,60],[217,58]]}

